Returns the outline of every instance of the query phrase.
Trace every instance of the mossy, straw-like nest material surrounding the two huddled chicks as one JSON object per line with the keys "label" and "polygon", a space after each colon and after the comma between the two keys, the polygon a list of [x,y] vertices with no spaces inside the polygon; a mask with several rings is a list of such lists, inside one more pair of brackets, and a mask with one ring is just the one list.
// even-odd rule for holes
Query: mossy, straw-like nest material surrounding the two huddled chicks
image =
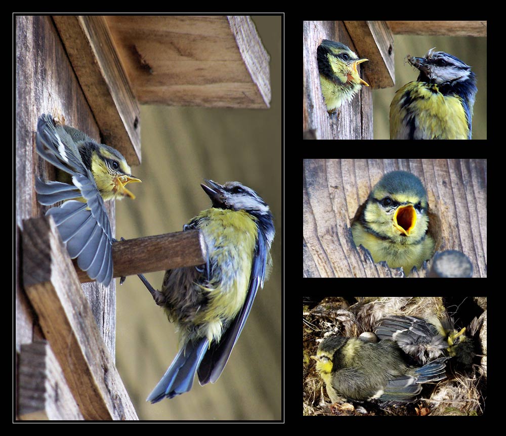
{"label": "mossy, straw-like nest material surrounding the two huddled chicks", "polygon": [[[420,318],[446,315],[459,327],[480,317],[474,331],[476,363],[466,371],[449,365],[447,379],[424,387],[427,398],[403,406],[376,402],[330,404],[310,356],[329,335],[359,336],[389,315]],[[482,415],[486,397],[486,298],[462,297],[326,297],[304,298],[303,413],[312,415]],[[481,353],[481,354],[479,354]]]}

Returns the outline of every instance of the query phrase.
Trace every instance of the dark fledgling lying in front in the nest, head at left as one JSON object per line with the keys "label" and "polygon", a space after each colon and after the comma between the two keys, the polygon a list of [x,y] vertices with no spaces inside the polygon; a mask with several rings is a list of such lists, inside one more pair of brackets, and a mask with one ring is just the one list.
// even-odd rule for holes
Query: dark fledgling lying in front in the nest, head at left
{"label": "dark fledgling lying in front in the nest, head at left", "polygon": [[316,371],[325,382],[332,403],[342,400],[371,400],[409,403],[421,392],[421,383],[443,380],[445,361],[410,367],[392,340],[377,343],[356,337],[329,336],[318,346]]}

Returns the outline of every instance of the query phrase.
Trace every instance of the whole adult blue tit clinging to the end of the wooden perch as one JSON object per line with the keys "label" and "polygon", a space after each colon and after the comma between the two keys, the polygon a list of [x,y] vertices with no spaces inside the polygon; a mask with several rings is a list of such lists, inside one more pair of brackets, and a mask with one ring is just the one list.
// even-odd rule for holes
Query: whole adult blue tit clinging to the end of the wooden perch
{"label": "whole adult blue tit clinging to the end of the wooden perch", "polygon": [[147,398],[152,403],[189,391],[196,372],[201,385],[218,380],[271,267],[267,203],[238,182],[201,186],[213,207],[183,230],[200,231],[205,265],[166,271],[161,291],[139,276],[180,332],[179,352]]}

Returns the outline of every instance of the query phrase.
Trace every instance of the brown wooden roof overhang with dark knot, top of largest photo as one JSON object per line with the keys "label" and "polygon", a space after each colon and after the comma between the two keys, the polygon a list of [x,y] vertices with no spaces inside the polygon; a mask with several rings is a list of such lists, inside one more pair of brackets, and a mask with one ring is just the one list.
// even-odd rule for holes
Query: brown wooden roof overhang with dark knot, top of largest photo
{"label": "brown wooden roof overhang with dark knot, top of largest photo", "polygon": [[140,103],[269,107],[269,56],[249,17],[105,19]]}

